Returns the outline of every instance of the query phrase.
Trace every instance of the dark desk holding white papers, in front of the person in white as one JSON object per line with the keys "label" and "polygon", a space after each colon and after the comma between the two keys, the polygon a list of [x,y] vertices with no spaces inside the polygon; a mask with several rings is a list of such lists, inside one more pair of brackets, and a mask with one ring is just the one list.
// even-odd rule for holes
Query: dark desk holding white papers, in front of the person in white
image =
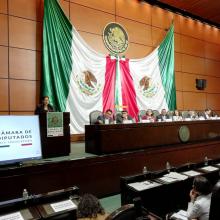
{"label": "dark desk holding white papers, in front of the person in white", "polygon": [[[203,163],[198,164],[197,169],[199,169],[199,166],[204,165]],[[173,183],[164,183],[142,191],[138,191],[128,185],[129,183],[144,180],[157,181],[157,178],[162,177],[164,172],[166,171],[155,174],[150,173],[146,176],[139,174],[134,178],[132,176],[121,177],[122,205],[131,203],[135,197],[141,197],[143,205],[146,209],[162,217],[165,217],[167,213],[175,212],[179,209],[186,210],[189,201],[189,192],[192,188],[194,177],[189,177],[186,180],[176,181]],[[219,170],[203,173],[202,175],[208,178],[214,184],[219,179]],[[134,180],[135,178],[136,181]]]}

